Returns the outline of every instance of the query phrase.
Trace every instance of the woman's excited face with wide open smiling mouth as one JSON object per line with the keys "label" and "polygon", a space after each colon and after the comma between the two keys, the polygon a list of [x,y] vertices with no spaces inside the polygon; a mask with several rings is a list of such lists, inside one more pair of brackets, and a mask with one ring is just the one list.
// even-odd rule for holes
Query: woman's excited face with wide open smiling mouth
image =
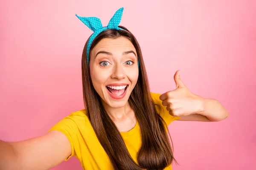
{"label": "woman's excited face with wide open smiling mouth", "polygon": [[139,76],[134,45],[126,37],[104,38],[90,54],[90,76],[93,87],[111,108],[128,102]]}

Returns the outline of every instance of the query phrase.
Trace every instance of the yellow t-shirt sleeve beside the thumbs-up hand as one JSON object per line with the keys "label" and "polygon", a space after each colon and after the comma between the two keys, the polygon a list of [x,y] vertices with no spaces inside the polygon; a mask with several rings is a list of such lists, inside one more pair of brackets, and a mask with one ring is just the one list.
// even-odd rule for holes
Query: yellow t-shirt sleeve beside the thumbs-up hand
{"label": "yellow t-shirt sleeve beside the thumbs-up hand", "polygon": [[159,99],[160,94],[151,93],[151,97],[154,103],[158,105],[158,107],[156,106],[157,111],[167,125],[180,118],[179,116],[172,116],[169,114],[169,111],[166,110],[166,106],[163,106],[162,101]]}

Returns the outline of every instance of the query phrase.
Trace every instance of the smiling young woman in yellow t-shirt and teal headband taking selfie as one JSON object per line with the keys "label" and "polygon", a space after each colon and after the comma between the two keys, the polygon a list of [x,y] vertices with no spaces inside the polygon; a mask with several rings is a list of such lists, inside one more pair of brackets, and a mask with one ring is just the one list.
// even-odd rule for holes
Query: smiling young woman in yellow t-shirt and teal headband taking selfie
{"label": "smiling young woman in yellow t-shirt and teal headband taking selfie", "polygon": [[71,113],[44,136],[0,141],[0,169],[47,170],[76,156],[84,170],[171,170],[175,161],[167,125],[221,121],[228,116],[215,99],[192,94],[175,73],[176,89],[149,90],[142,52],[128,29],[79,17],[94,33],[82,54],[85,109]]}

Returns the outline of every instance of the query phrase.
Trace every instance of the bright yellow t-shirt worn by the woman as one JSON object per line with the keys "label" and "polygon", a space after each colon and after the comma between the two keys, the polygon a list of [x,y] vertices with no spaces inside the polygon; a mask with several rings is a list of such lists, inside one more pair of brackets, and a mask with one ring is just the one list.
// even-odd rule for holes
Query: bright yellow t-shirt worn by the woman
{"label": "bright yellow t-shirt worn by the woman", "polygon": [[[160,112],[161,110],[158,108],[157,111],[160,112],[160,116],[162,116],[167,125],[179,118],[169,114],[169,111],[166,110],[166,107],[162,105],[162,101],[159,99],[160,94],[151,93],[151,96],[154,103],[163,107],[163,109],[161,109],[162,112]],[[84,170],[113,169],[107,153],[99,143],[93,127],[86,116],[85,109],[71,113],[50,130],[58,130],[64,133],[70,141],[72,153],[65,161],[71,156],[76,156]],[[121,136],[131,157],[138,164],[137,152],[141,147],[140,126],[138,122],[130,131],[121,132]],[[165,170],[172,170],[172,165],[166,167]]]}

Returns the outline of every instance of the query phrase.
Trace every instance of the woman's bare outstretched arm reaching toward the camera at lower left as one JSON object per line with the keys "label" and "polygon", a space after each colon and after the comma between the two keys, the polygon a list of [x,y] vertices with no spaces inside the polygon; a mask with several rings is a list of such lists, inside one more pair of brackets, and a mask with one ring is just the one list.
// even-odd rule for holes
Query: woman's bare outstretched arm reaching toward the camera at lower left
{"label": "woman's bare outstretched arm reaching toward the camera at lower left", "polygon": [[49,170],[71,154],[69,140],[55,130],[19,142],[0,141],[0,150],[1,170]]}

